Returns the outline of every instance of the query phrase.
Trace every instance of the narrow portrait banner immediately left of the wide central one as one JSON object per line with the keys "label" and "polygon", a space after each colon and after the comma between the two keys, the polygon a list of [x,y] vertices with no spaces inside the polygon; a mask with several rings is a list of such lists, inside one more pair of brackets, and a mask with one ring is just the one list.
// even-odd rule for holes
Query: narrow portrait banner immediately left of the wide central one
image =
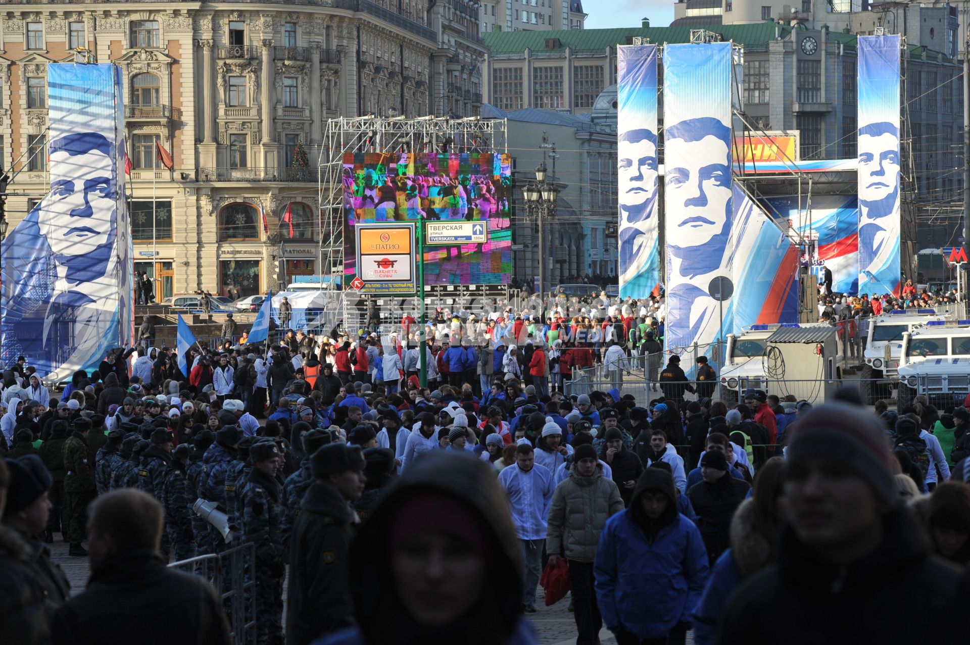
{"label": "narrow portrait banner immediately left of the wide central one", "polygon": [[661,281],[656,45],[617,48],[617,98],[620,297],[646,298]]}

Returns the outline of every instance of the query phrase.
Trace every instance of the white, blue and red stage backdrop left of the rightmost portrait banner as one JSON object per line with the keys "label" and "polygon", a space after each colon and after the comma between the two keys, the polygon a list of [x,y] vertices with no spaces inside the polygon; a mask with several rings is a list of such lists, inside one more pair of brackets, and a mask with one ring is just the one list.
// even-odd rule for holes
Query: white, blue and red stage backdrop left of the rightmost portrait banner
{"label": "white, blue and red stage backdrop left of the rightmost portrait banner", "polygon": [[824,270],[832,272],[832,292],[855,296],[858,293],[858,200],[855,195],[815,195],[812,208],[798,207],[798,198],[769,197],[768,212],[783,228],[791,228],[803,239],[812,241],[812,254],[802,258],[810,273],[824,280]]}

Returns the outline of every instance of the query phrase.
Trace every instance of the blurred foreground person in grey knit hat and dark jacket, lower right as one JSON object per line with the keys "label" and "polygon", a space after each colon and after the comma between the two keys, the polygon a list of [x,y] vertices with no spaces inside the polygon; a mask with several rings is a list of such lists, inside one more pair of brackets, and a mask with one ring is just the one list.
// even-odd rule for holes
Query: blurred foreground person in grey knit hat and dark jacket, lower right
{"label": "blurred foreground person in grey knit hat and dark jacket, lower right", "polygon": [[857,608],[921,607],[905,621],[857,612],[854,629],[869,642],[964,642],[963,570],[930,555],[900,504],[880,421],[858,406],[825,403],[800,417],[792,433],[778,564],[728,602],[722,642],[776,643],[792,629],[799,642],[838,641],[843,625],[818,619],[845,611],[845,594]]}

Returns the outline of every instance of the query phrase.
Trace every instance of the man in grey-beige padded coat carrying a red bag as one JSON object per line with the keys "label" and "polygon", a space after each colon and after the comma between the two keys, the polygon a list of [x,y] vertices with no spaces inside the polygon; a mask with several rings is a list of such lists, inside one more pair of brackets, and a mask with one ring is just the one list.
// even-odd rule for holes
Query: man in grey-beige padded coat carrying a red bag
{"label": "man in grey-beige padded coat carrying a red bag", "polygon": [[602,476],[597,451],[588,443],[578,446],[569,476],[553,493],[546,533],[549,563],[556,564],[565,557],[569,564],[577,645],[593,645],[598,640],[602,618],[593,589],[593,563],[599,532],[611,515],[623,509],[620,489],[612,479]]}

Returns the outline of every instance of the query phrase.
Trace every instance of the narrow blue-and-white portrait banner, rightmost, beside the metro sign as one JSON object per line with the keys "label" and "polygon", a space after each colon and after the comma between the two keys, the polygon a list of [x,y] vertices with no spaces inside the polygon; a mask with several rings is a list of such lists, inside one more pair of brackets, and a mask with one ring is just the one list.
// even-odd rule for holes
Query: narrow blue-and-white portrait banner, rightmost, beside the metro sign
{"label": "narrow blue-and-white portrait banner, rightmost, beside the metro sign", "polygon": [[899,36],[858,37],[858,293],[899,295]]}

